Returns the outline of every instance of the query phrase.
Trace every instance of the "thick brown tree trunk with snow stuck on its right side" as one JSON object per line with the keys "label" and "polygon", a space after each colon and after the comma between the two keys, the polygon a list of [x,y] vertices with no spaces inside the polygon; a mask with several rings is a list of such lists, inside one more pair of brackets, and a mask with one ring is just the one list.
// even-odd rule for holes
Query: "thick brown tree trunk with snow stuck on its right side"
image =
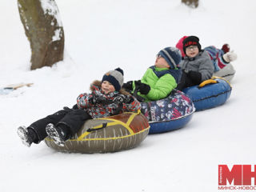
{"label": "thick brown tree trunk with snow stuck on its right side", "polygon": [[18,11],[30,41],[30,69],[62,61],[64,30],[54,0],[18,0]]}

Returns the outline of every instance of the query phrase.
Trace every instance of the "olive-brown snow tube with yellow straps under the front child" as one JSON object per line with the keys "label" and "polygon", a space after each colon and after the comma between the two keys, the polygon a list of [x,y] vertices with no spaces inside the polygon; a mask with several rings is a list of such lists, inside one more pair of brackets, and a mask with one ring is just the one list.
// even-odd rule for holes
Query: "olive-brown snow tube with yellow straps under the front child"
{"label": "olive-brown snow tube with yellow straps under the front child", "polygon": [[46,138],[46,145],[62,152],[106,153],[127,150],[138,146],[149,134],[146,117],[138,112],[124,113],[107,118],[87,120],[78,134],[57,146]]}

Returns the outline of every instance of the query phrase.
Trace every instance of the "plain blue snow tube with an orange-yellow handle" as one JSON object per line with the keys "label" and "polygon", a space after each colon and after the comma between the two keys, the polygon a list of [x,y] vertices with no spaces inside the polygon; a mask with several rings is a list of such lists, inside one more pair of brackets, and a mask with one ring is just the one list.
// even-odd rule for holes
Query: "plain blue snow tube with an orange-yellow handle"
{"label": "plain blue snow tube with an orange-yellow handle", "polygon": [[182,91],[192,99],[198,111],[222,105],[230,98],[231,90],[232,87],[225,78],[213,77],[199,86],[190,86]]}

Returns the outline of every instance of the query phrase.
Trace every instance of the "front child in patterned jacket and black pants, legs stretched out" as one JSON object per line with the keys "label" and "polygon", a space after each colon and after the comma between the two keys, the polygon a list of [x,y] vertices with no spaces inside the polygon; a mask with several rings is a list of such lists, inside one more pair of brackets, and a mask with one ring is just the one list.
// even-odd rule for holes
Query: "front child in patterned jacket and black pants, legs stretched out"
{"label": "front child in patterned jacket and black pants, legs stretched out", "polygon": [[72,109],[64,107],[46,118],[39,119],[30,126],[19,126],[18,136],[23,144],[39,143],[48,135],[58,146],[81,129],[90,118],[104,118],[124,111],[137,112],[141,104],[136,98],[122,90],[123,71],[118,68],[104,74],[102,82],[94,81],[91,94],[80,94],[77,105]]}

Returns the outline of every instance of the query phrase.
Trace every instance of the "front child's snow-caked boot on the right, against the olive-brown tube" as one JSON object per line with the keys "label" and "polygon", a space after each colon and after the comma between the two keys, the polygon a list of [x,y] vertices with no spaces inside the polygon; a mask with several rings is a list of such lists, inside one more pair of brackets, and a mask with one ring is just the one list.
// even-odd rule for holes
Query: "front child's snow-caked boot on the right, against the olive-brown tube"
{"label": "front child's snow-caked boot on the right, against the olive-brown tube", "polygon": [[65,133],[63,132],[62,129],[55,127],[54,124],[49,123],[46,126],[46,133],[50,138],[54,140],[54,143],[57,146],[64,146],[65,145]]}

